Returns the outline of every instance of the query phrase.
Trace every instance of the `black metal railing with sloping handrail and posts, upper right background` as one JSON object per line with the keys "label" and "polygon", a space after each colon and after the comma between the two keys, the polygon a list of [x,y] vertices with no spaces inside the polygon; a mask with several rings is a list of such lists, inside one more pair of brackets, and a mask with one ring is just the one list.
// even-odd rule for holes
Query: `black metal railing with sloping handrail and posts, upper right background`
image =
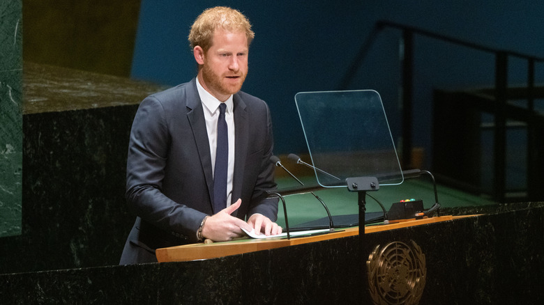
{"label": "black metal railing with sloping handrail and posts, upper right background", "polygon": [[534,109],[535,96],[535,65],[536,63],[544,62],[543,57],[522,54],[520,52],[506,51],[504,49],[494,49],[479,45],[466,40],[452,38],[450,36],[441,35],[425,29],[419,29],[414,26],[398,24],[395,22],[378,21],[370,31],[369,36],[361,45],[359,52],[354,58],[350,69],[346,72],[345,77],[341,80],[339,89],[344,90],[349,83],[354,79],[358,68],[363,63],[363,60],[368,53],[370,47],[377,39],[378,34],[386,29],[398,29],[402,31],[402,40],[404,44],[404,52],[402,58],[402,164],[409,167],[411,164],[412,151],[412,95],[413,95],[413,79],[414,79],[414,36],[425,36],[434,38],[444,42],[450,42],[455,45],[461,45],[470,49],[476,49],[490,53],[495,56],[495,84],[494,84],[494,190],[493,196],[496,201],[504,202],[506,194],[506,120],[508,113],[506,111],[507,91],[508,91],[508,58],[517,57],[527,60],[527,109],[529,115],[525,118],[527,123],[527,198],[529,200],[537,200],[542,192],[538,190],[541,186],[542,175],[539,173],[542,169],[538,169],[536,164],[539,164],[536,158],[540,153],[535,150],[539,147],[536,136],[537,116]]}

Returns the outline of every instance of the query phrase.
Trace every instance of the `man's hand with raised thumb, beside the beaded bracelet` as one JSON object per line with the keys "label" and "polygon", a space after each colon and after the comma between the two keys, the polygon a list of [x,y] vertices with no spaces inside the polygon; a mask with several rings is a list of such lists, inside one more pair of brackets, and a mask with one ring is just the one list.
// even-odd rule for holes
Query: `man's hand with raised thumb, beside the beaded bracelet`
{"label": "man's hand with raised thumb, beside the beaded bracelet", "polygon": [[240,208],[241,203],[241,199],[238,199],[233,205],[208,217],[204,228],[202,228],[202,236],[214,242],[225,242],[235,237],[243,236],[245,233],[243,233],[241,228],[251,230],[251,226],[246,224],[245,221],[230,215]]}

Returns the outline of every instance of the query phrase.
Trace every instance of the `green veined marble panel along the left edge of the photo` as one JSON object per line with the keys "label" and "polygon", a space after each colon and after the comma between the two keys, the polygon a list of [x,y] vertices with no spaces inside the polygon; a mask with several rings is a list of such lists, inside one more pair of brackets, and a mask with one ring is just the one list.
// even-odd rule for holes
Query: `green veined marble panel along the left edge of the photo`
{"label": "green veined marble panel along the left edge of the photo", "polygon": [[0,2],[0,237],[21,233],[22,1]]}

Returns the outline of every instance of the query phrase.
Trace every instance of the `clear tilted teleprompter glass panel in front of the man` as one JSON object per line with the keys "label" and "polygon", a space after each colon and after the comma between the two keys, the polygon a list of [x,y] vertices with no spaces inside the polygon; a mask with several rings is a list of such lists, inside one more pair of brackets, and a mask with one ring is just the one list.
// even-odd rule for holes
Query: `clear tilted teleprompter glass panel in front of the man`
{"label": "clear tilted teleprompter glass panel in front of the man", "polygon": [[346,187],[347,178],[404,180],[381,97],[376,91],[319,91],[295,95],[296,108],[322,187]]}

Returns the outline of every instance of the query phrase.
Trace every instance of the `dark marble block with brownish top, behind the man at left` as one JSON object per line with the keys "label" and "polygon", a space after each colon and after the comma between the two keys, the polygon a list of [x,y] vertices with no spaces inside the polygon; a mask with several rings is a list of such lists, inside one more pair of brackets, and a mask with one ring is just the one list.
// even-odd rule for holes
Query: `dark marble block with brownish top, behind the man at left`
{"label": "dark marble block with brownish top, behind the man at left", "polygon": [[[130,126],[160,86],[24,63],[22,233],[0,238],[0,274],[115,265]],[[0,284],[1,286],[1,284]]]}

